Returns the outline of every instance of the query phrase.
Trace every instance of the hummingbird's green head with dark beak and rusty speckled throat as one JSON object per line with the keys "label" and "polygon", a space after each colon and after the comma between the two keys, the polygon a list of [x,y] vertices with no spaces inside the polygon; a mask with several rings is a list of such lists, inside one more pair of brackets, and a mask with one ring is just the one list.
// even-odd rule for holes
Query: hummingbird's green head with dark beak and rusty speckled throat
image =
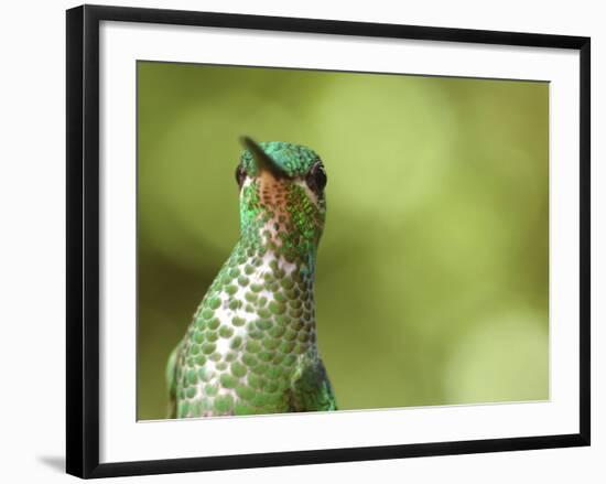
{"label": "hummingbird's green head with dark beak and rusty speckled throat", "polygon": [[326,213],[322,160],[300,144],[241,141],[236,181],[242,236],[286,260],[315,255]]}

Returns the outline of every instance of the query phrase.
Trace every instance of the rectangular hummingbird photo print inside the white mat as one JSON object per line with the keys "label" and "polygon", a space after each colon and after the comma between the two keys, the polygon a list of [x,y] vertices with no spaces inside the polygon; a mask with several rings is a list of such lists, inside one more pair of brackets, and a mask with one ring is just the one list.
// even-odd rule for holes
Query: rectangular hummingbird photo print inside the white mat
{"label": "rectangular hummingbird photo print inside the white mat", "polygon": [[548,82],[137,62],[137,418],[544,401]]}

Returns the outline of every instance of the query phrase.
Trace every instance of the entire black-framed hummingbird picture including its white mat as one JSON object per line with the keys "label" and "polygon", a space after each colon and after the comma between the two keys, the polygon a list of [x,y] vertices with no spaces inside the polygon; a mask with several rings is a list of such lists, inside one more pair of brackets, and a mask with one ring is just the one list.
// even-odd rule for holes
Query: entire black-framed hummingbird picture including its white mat
{"label": "entire black-framed hummingbird picture including its white mat", "polygon": [[67,11],[67,472],[589,444],[589,39]]}

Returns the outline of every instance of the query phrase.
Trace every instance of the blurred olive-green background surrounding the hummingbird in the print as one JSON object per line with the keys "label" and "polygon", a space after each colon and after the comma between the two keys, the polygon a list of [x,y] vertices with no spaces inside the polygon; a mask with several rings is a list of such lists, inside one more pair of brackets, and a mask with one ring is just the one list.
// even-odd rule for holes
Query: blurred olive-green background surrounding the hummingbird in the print
{"label": "blurred olive-green background surrounding the hummingbird in the print", "polygon": [[138,417],[238,237],[241,135],[328,173],[318,344],[342,409],[549,398],[549,85],[138,63]]}

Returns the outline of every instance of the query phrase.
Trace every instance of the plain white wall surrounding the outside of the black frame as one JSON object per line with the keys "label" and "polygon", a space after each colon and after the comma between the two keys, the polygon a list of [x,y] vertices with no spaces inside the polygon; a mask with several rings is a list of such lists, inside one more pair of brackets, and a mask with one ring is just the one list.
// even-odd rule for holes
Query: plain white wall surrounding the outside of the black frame
{"label": "plain white wall surrounding the outside of the black frame", "polygon": [[[97,3],[106,3],[97,1]],[[606,15],[599,1],[305,0],[119,1],[286,17],[591,35],[593,50],[593,447],[466,456],[230,471],[131,478],[153,482],[266,483],[604,482],[606,420]],[[397,4],[398,3],[398,4]],[[4,2],[0,28],[0,475],[6,482],[59,482],[64,452],[64,10],[69,1]],[[602,221],[602,223],[599,223]],[[600,301],[602,299],[602,301]],[[599,384],[599,385],[598,385]],[[595,410],[598,411],[595,411]]]}

